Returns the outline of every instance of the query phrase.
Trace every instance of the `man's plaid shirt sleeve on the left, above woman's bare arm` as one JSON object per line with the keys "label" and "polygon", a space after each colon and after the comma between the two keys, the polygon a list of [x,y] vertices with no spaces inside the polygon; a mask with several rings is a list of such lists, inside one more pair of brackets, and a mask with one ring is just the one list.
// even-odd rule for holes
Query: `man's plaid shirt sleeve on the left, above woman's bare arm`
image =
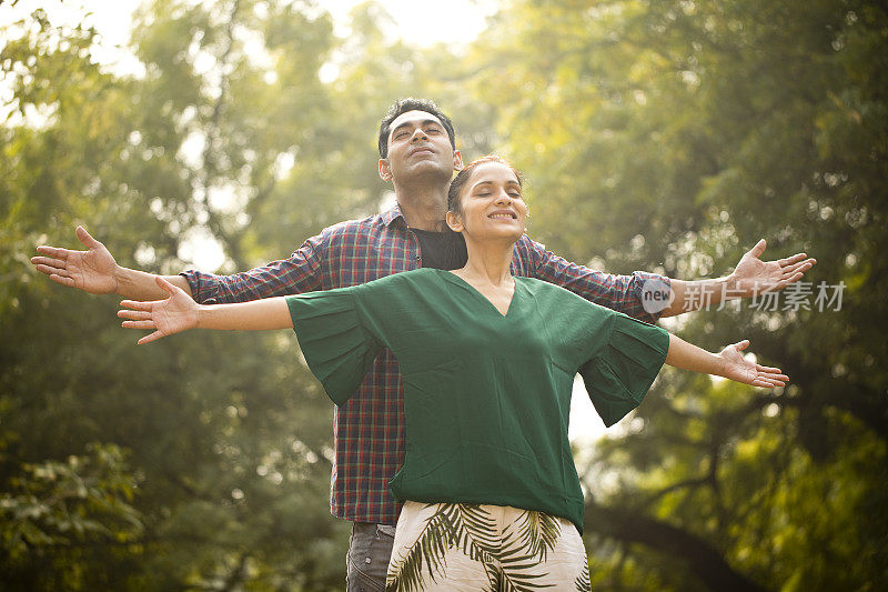
{"label": "man's plaid shirt sleeve on the left, above woman's bare arm", "polygon": [[188,280],[194,300],[200,304],[248,302],[262,298],[297,294],[320,290],[321,260],[326,244],[325,232],[306,240],[289,259],[232,275],[215,275],[188,270],[180,275]]}

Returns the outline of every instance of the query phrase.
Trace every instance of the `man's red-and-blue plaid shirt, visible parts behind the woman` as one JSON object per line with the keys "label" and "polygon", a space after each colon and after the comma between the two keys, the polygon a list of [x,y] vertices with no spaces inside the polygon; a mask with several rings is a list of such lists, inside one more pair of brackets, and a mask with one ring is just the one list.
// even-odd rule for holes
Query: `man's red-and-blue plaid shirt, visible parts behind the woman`
{"label": "man's red-and-blue plaid shirt, visible parts behind the woman", "polygon": [[[395,205],[363,220],[324,229],[290,259],[233,275],[189,270],[182,275],[201,303],[245,302],[260,298],[330,290],[365,283],[422,265],[420,243]],[[642,307],[642,284],[650,273],[610,275],[569,263],[523,235],[515,244],[512,273],[562,285],[581,297],[654,321]],[[404,459],[403,388],[397,361],[383,350],[349,401],[335,408],[335,462],[331,512],[354,522],[395,524],[401,506],[389,481]]]}

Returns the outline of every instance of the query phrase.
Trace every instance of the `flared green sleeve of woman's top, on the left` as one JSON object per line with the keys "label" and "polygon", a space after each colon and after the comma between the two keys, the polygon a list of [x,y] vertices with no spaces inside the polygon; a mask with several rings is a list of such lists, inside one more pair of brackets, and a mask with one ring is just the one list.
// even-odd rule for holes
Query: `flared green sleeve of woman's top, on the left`
{"label": "flared green sleeve of woman's top, on the left", "polygon": [[334,403],[352,397],[382,344],[362,322],[356,288],[286,298],[293,331],[312,373]]}

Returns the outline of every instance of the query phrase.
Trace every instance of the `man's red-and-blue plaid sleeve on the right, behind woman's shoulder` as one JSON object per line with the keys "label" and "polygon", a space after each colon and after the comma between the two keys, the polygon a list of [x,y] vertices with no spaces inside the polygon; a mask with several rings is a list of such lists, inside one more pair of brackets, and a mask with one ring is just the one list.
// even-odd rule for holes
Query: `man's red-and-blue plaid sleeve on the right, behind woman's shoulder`
{"label": "man's red-and-blue plaid sleeve on the right, behind woman's shoulder", "polygon": [[669,278],[636,271],[630,275],[615,275],[595,271],[585,265],[572,263],[547,251],[546,248],[526,235],[518,241],[518,248],[525,250],[531,260],[531,277],[571,290],[591,302],[628,314],[645,322],[659,319],[664,307],[652,305],[645,310],[644,288],[648,280],[658,280],[649,284],[656,290],[669,290]]}

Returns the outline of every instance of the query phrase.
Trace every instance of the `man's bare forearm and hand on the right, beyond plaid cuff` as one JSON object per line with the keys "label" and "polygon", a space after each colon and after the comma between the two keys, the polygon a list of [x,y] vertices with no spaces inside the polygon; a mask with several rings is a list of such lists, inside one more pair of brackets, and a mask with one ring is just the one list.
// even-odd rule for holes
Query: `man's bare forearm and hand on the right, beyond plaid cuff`
{"label": "man's bare forearm and hand on the right, beyond plaid cuff", "polygon": [[675,317],[683,312],[718,304],[724,300],[751,298],[764,292],[783,290],[790,283],[800,280],[805,272],[817,263],[806,253],[796,253],[778,261],[761,261],[759,257],[765,252],[766,247],[765,239],[758,241],[740,258],[734,272],[725,278],[696,281],[670,280],[669,305],[663,310],[660,317]]}

